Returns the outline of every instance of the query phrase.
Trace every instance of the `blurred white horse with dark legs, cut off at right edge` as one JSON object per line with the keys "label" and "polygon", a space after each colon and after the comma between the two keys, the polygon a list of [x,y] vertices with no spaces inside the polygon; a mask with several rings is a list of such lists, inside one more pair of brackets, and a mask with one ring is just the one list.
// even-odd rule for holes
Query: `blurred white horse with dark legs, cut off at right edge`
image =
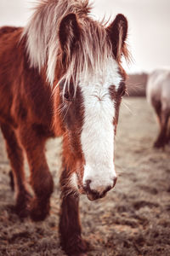
{"label": "blurred white horse with dark legs, cut off at right edge", "polygon": [[154,147],[163,148],[170,141],[170,70],[156,70],[148,77],[146,96],[156,111],[160,132]]}

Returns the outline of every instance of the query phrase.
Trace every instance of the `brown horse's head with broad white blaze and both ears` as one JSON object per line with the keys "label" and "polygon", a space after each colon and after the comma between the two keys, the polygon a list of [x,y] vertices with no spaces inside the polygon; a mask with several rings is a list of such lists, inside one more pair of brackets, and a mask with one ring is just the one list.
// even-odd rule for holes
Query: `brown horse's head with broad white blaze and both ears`
{"label": "brown horse's head with broad white blaze and both ears", "polygon": [[[121,56],[126,55],[127,19],[110,26],[70,14],[59,26],[59,86],[56,127],[64,134],[64,166],[71,187],[89,200],[116,184],[114,140],[125,93]],[[61,70],[64,72],[61,75]],[[58,123],[59,122],[59,123]],[[56,128],[57,129],[57,128]]]}

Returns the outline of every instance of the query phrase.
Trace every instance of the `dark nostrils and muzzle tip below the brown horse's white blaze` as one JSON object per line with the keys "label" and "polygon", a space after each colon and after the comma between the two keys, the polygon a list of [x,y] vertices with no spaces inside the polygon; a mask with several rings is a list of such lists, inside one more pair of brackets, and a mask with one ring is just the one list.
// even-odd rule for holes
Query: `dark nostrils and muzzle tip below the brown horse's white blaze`
{"label": "dark nostrils and muzzle tip below the brown horse's white blaze", "polygon": [[115,186],[116,180],[117,180],[117,177],[114,177],[111,185],[108,185],[106,187],[99,186],[96,189],[92,189],[93,182],[92,182],[92,180],[88,179],[85,182],[85,186],[84,186],[84,190],[86,191],[86,194],[88,195],[88,199],[90,201],[94,201],[96,199],[103,198],[106,195],[106,193]]}

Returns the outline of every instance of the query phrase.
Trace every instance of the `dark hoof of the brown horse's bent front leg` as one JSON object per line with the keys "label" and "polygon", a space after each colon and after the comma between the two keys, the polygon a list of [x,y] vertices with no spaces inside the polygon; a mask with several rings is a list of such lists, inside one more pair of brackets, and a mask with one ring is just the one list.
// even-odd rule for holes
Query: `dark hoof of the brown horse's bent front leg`
{"label": "dark hoof of the brown horse's bent front leg", "polygon": [[30,216],[33,221],[42,221],[44,220],[49,213],[49,201],[44,202],[44,200],[40,200],[37,198],[34,198],[33,201],[31,201],[31,212]]}

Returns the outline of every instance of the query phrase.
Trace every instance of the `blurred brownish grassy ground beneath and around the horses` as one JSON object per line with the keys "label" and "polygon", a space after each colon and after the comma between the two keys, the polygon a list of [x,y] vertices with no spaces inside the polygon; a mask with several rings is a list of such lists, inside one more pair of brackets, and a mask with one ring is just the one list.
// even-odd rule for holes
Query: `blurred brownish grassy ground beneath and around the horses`
{"label": "blurred brownish grassy ground beneath and around the horses", "polygon": [[[116,188],[99,201],[81,197],[82,236],[90,242],[89,256],[170,255],[170,147],[152,148],[157,131],[144,98],[124,100],[116,136]],[[58,230],[60,145],[61,139],[47,145],[55,189],[49,217],[35,224],[14,214],[10,166],[0,134],[1,256],[65,255]]]}

